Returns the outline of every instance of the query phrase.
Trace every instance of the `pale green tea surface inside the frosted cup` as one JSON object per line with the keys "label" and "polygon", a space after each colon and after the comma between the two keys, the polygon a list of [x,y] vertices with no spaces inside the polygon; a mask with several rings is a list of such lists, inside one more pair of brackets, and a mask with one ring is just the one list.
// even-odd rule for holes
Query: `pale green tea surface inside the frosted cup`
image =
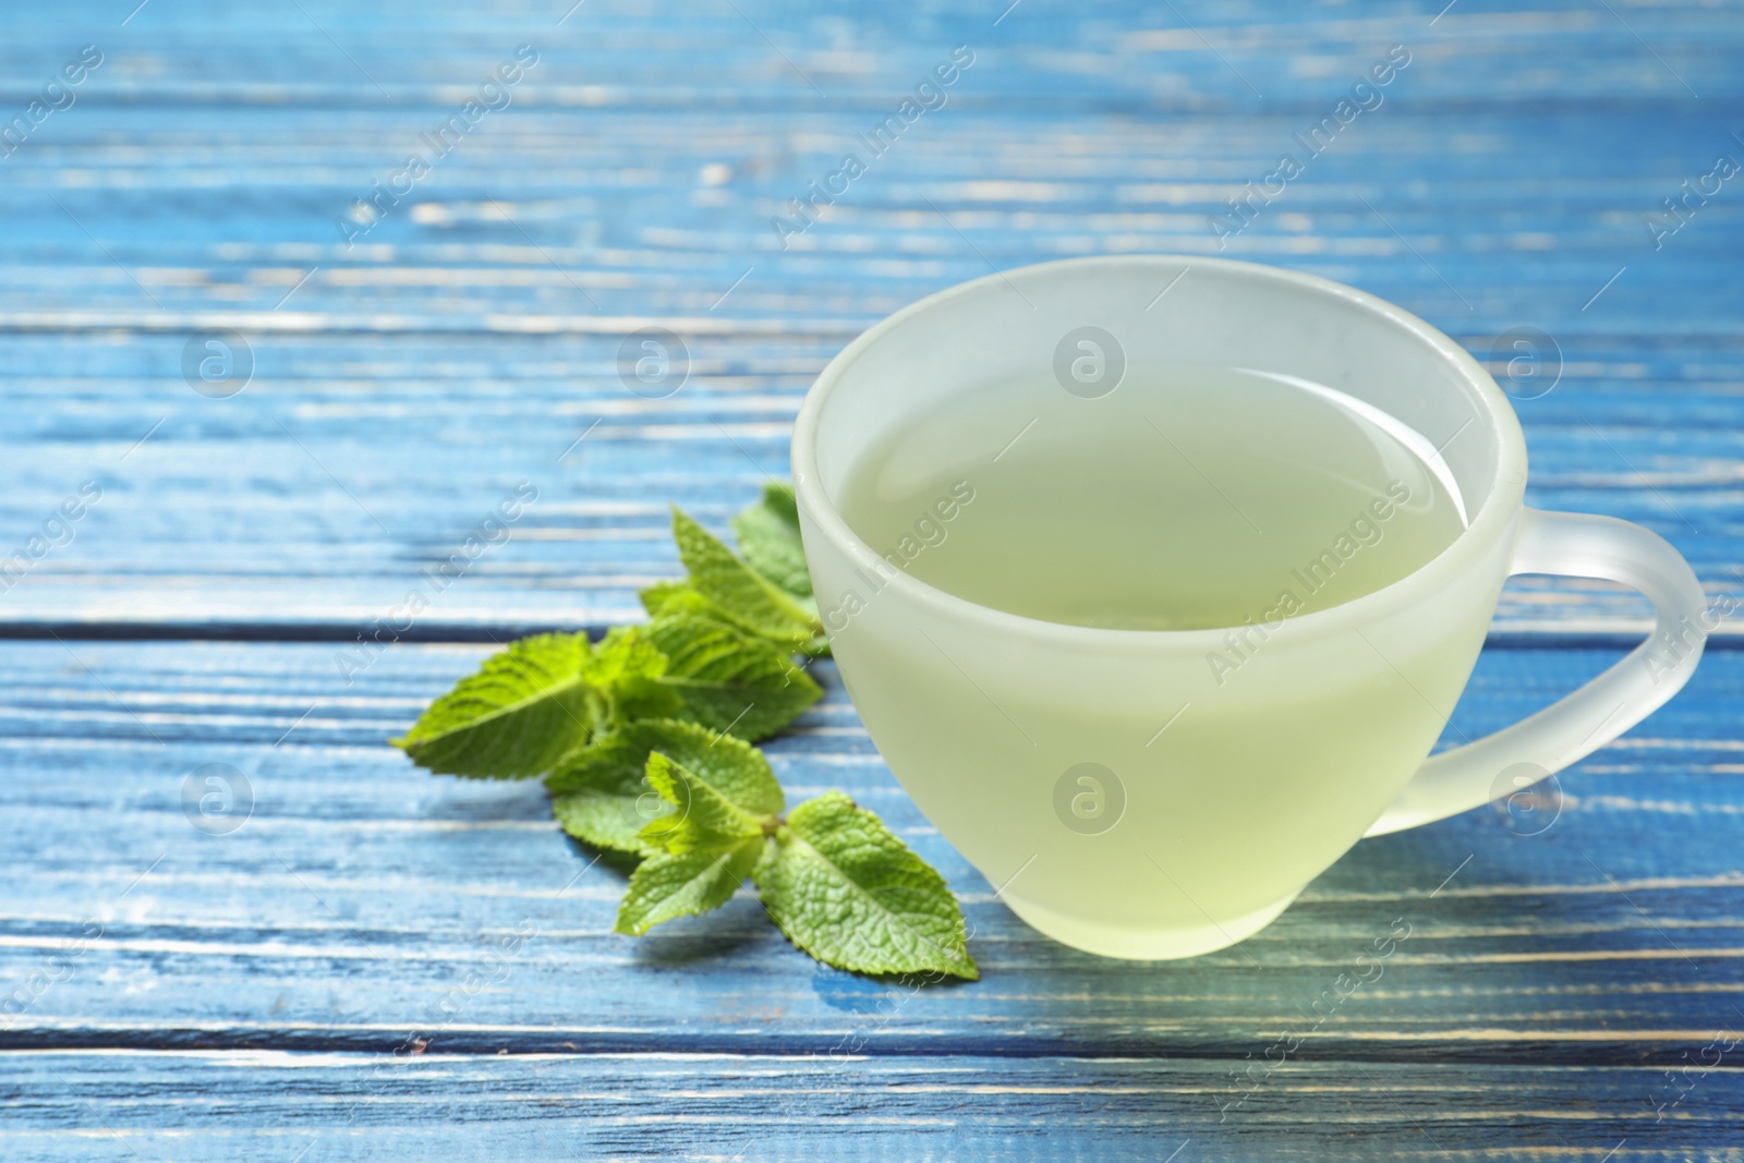
{"label": "pale green tea surface inside the frosted cup", "polygon": [[1134,368],[970,394],[870,450],[837,499],[895,567],[1012,614],[1123,629],[1275,622],[1425,565],[1467,514],[1437,450],[1341,392]]}

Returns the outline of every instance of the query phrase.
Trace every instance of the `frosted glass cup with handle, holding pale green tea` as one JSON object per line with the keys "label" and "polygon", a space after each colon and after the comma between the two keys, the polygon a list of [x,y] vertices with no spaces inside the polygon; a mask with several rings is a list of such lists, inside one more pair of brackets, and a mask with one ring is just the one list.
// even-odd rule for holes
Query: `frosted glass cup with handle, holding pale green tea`
{"label": "frosted glass cup with handle, holding pale green tea", "polygon": [[[1092,377],[1123,356],[1366,401],[1441,450],[1468,527],[1414,574],[1284,619],[1221,687],[1207,654],[1224,629],[1036,621],[886,565],[837,513],[856,460],[945,399],[1057,368],[1062,342]],[[818,377],[794,479],[835,663],[889,769],[1024,921],[1109,957],[1231,945],[1362,837],[1517,795],[1666,703],[1706,642],[1702,589],[1657,534],[1524,507],[1519,422],[1458,343],[1362,291],[1252,263],[1083,258],[924,298]],[[1510,574],[1631,586],[1657,633],[1559,703],[1430,758]]]}

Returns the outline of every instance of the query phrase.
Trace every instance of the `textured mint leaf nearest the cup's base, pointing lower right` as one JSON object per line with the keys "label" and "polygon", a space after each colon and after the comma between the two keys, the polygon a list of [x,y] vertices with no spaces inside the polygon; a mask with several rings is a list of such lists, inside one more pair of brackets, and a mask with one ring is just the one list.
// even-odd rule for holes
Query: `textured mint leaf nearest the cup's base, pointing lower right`
{"label": "textured mint leaf nearest the cup's base, pointing lower right", "polygon": [[963,912],[945,879],[841,792],[794,809],[757,868],[788,940],[839,969],[977,980]]}

